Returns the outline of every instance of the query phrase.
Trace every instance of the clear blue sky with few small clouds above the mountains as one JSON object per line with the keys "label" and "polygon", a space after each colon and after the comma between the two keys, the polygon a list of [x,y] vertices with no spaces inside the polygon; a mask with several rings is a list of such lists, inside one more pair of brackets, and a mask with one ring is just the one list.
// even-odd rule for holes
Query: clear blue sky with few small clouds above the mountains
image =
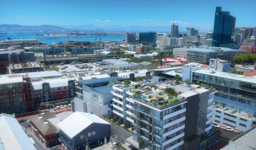
{"label": "clear blue sky with few small clouds above the mountains", "polygon": [[213,30],[216,6],[236,27],[256,26],[256,0],[11,0],[1,1],[0,24],[199,27]]}

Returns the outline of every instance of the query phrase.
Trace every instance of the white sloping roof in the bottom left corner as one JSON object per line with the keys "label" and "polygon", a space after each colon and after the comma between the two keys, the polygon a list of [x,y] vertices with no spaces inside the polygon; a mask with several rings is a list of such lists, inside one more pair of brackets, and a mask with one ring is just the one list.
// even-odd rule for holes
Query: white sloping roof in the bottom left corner
{"label": "white sloping roof in the bottom left corner", "polygon": [[0,114],[0,120],[0,147],[2,150],[36,150],[14,115]]}

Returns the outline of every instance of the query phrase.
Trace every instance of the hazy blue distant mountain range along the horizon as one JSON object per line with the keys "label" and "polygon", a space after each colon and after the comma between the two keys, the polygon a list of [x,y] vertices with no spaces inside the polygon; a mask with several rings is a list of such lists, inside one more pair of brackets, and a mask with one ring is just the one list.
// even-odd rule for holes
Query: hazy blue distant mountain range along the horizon
{"label": "hazy blue distant mountain range along the horizon", "polygon": [[[78,29],[83,30],[105,30],[105,31],[168,31],[171,30],[170,26],[106,26],[106,27],[97,27],[92,24],[81,25],[81,26],[64,26],[64,25],[41,25],[41,26],[21,26],[21,25],[10,25],[10,24],[1,24],[0,31],[72,31]],[[179,32],[187,31],[185,27],[179,27]]]}

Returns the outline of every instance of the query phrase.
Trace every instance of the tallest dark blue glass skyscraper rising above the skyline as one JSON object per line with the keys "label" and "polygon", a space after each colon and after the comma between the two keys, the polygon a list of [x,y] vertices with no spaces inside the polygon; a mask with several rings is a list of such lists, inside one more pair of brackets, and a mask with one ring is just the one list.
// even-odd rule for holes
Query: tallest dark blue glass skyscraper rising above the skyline
{"label": "tallest dark blue glass skyscraper rising above the skyline", "polygon": [[221,11],[221,7],[216,7],[213,28],[212,46],[220,47],[221,44],[231,43],[231,36],[235,32],[236,18],[228,11]]}

